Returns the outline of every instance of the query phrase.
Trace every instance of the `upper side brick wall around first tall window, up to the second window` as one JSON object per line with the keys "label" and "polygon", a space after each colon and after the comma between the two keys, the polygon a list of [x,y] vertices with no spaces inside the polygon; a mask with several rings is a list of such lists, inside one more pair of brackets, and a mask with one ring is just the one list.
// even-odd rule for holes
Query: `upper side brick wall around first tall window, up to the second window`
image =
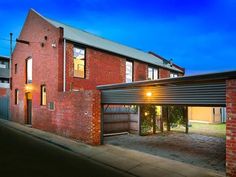
{"label": "upper side brick wall around first tall window, up to the second window", "polygon": [[73,44],[66,48],[66,90],[96,89],[97,85],[125,81],[125,58],[86,48],[86,78],[73,77]]}

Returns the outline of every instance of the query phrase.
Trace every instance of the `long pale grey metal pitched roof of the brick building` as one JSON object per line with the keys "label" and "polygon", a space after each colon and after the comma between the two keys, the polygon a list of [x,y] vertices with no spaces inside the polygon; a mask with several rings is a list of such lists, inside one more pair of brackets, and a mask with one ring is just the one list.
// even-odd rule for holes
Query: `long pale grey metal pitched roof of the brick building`
{"label": "long pale grey metal pitched roof of the brick building", "polygon": [[[34,11],[34,10],[33,10]],[[36,12],[36,11],[34,11]],[[37,13],[37,12],[36,12]],[[40,15],[39,13],[37,13]],[[64,38],[73,42],[77,42],[80,44],[84,44],[90,47],[102,49],[105,51],[109,51],[115,54],[119,54],[131,59],[139,60],[145,63],[157,65],[160,67],[168,68],[170,70],[182,72],[180,69],[178,69],[175,66],[171,66],[169,63],[163,62],[162,59],[153,56],[149,53],[143,52],[141,50],[137,50],[107,39],[104,39],[102,37],[96,36],[94,34],[88,33],[84,30],[74,28],[68,25],[65,25],[63,23],[48,19],[46,17],[43,17],[46,21],[48,21],[53,26],[59,28],[62,27],[64,29]]]}

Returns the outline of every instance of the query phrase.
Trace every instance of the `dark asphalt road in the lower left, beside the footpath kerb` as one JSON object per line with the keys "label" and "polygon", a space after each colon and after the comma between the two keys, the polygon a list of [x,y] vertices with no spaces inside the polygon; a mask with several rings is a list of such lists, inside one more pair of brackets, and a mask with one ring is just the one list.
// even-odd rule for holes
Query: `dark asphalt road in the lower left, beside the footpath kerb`
{"label": "dark asphalt road in the lower left, beside the footpath kerb", "polygon": [[77,176],[129,175],[0,124],[0,177]]}

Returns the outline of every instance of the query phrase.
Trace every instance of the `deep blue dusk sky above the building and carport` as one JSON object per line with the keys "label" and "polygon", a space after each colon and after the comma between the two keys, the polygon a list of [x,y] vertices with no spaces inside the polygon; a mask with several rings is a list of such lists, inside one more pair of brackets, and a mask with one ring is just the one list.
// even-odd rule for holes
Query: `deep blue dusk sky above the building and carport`
{"label": "deep blue dusk sky above the building and carport", "polygon": [[30,8],[43,16],[186,68],[236,69],[236,0],[1,0],[0,55],[9,55]]}

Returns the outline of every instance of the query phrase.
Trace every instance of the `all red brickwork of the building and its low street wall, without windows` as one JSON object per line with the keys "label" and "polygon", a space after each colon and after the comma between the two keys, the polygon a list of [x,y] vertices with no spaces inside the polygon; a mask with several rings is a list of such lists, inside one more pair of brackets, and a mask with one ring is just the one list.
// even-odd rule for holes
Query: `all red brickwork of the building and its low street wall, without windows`
{"label": "all red brickwork of the building and its low street wall, without windows", "polygon": [[[125,82],[126,58],[85,47],[86,78],[73,77],[73,46],[66,43],[66,92],[63,92],[63,29],[56,28],[40,15],[31,11],[24,24],[13,53],[11,119],[26,123],[26,93],[32,94],[32,127],[81,140],[100,144],[100,93],[97,85]],[[55,44],[54,47],[52,44]],[[32,84],[26,84],[26,60],[32,57]],[[17,64],[17,73],[14,67]],[[134,61],[134,81],[147,79],[148,64]],[[160,76],[170,72],[160,69]],[[46,86],[47,105],[41,105],[41,85]],[[26,89],[30,86],[30,89]],[[15,104],[15,89],[19,101]],[[49,103],[55,108],[49,109]]]}

